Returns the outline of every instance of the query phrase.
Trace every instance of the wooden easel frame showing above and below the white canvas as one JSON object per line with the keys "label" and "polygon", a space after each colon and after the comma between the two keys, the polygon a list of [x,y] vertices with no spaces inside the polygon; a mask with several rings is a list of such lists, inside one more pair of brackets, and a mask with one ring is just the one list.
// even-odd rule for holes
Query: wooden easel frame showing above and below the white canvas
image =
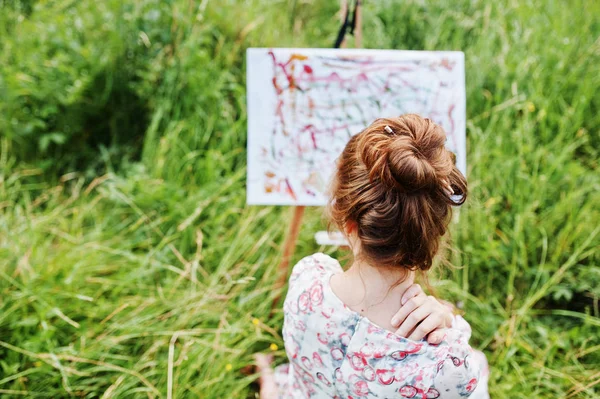
{"label": "wooden easel frame showing above and below the white canvas", "polygon": [[[334,45],[335,48],[346,47],[346,33],[354,35],[354,46],[356,48],[362,47],[362,13],[361,13],[361,0],[354,0],[354,9],[352,15],[348,7],[348,0],[340,1],[340,16],[342,26]],[[352,19],[350,19],[352,18]],[[298,235],[300,234],[300,225],[302,224],[302,218],[304,217],[305,206],[300,205],[294,207],[294,214],[292,216],[292,222],[290,229],[287,233],[285,241],[283,243],[283,257],[277,267],[277,280],[275,281],[275,289],[279,290],[287,281],[288,270],[290,261],[294,255],[294,249],[296,248],[296,241],[298,241]],[[278,295],[273,300],[271,311],[275,309],[281,295]]]}

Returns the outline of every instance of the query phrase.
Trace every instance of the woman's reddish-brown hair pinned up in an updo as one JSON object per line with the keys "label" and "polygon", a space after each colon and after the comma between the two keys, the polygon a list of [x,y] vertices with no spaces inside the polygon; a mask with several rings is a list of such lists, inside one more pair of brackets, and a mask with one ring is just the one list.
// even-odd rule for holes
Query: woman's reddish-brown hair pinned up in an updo
{"label": "woman's reddish-brown hair pinned up in an updo", "polygon": [[451,206],[467,198],[445,141],[440,126],[416,114],[377,119],[350,139],[338,159],[329,214],[342,231],[356,223],[362,260],[431,267]]}

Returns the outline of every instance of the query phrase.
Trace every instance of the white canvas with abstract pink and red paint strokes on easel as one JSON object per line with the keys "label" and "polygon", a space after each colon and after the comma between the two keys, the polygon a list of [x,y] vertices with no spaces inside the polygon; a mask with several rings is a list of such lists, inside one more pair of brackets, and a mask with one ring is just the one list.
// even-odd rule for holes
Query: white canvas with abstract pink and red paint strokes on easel
{"label": "white canvas with abstract pink and red paint strokes on easel", "polygon": [[440,124],[465,173],[462,52],[251,48],[247,202],[325,205],[335,160],[376,118]]}

